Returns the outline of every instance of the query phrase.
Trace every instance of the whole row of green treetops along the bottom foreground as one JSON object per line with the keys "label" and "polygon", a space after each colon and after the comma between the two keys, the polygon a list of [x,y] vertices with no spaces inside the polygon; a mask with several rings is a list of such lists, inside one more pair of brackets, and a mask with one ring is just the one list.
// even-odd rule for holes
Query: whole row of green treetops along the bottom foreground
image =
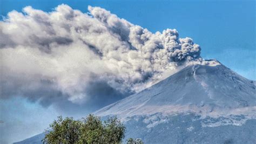
{"label": "whole row of green treetops along the bottom foreground", "polygon": [[[99,116],[89,114],[82,121],[58,116],[45,130],[43,143],[122,143],[125,126],[112,116],[102,121]],[[128,139],[129,144],[142,144],[141,139]]]}

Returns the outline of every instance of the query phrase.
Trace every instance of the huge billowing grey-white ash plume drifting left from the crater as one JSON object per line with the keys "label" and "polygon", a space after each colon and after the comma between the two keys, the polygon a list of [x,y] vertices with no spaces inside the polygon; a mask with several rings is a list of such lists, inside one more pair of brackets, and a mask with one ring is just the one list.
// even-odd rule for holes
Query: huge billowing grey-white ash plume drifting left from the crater
{"label": "huge billowing grey-white ash plume drifting left from the crater", "polygon": [[8,13],[0,22],[2,99],[99,108],[203,60],[200,46],[175,29],[152,33],[105,9],[88,10],[62,4]]}

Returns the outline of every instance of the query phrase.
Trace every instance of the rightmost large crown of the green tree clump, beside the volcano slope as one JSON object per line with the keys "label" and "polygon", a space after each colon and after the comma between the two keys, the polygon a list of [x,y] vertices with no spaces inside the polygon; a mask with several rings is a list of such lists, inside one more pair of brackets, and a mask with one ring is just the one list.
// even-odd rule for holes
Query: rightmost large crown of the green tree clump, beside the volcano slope
{"label": "rightmost large crown of the green tree clump, beside the volcano slope", "polygon": [[112,116],[104,121],[104,142],[106,143],[120,143],[124,138],[125,126],[117,118]]}

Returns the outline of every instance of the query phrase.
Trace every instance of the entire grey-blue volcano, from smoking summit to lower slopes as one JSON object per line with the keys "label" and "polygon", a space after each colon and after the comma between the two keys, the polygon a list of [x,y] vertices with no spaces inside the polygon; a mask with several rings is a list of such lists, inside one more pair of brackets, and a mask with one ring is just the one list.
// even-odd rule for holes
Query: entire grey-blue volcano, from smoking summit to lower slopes
{"label": "entire grey-blue volcano, from smoking summit to lower slopes", "polygon": [[145,143],[256,142],[255,81],[220,63],[187,66],[95,114],[119,116],[125,139]]}

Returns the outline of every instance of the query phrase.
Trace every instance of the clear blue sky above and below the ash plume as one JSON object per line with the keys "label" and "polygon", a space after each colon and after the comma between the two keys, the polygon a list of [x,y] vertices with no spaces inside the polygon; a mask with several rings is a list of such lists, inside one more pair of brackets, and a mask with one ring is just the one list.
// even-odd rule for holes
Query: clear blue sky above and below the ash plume
{"label": "clear blue sky above and below the ash plume", "polygon": [[[163,31],[167,28],[177,29],[180,37],[191,37],[201,46],[203,58],[215,58],[242,76],[256,80],[255,1],[1,0],[0,14],[6,16],[9,11],[21,11],[28,5],[34,9],[52,11],[62,3],[83,12],[87,12],[88,5],[100,6],[151,32]],[[15,125],[21,124],[19,132],[22,132],[26,126],[33,127],[28,128],[29,132],[17,135],[16,138],[9,136],[6,138],[7,142],[15,142],[42,132],[49,121],[57,115],[65,115],[55,108],[44,108],[22,98],[12,98],[0,104],[1,109],[12,107],[9,111],[13,115],[2,113],[1,117],[6,116],[7,119],[16,120]],[[42,116],[43,118],[46,116],[48,120],[44,120],[40,127],[36,127],[35,122],[42,120]],[[73,116],[79,117],[75,114]],[[14,130],[10,129],[9,132],[12,133]]]}

